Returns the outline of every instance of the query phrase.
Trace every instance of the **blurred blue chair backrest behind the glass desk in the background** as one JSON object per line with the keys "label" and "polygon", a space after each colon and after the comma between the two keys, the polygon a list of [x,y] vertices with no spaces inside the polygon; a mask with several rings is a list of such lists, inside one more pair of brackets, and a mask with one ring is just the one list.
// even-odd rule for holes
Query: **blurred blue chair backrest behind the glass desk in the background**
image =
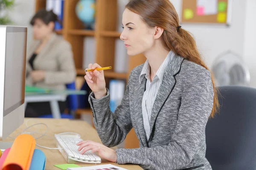
{"label": "blurred blue chair backrest behind the glass desk in the background", "polygon": [[[66,88],[69,90],[76,90],[75,82],[66,84]],[[76,94],[68,95],[67,104],[70,111],[75,111],[78,108],[78,95]]]}

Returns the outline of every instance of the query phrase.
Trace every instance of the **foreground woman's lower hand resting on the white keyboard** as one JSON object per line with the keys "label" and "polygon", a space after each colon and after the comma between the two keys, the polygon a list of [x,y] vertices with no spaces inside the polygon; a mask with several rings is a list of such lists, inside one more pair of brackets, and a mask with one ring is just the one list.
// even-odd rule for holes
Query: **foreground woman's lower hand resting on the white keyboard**
{"label": "foreground woman's lower hand resting on the white keyboard", "polygon": [[83,155],[85,152],[88,150],[91,150],[92,153],[98,152],[99,156],[102,157],[103,159],[107,159],[108,161],[116,162],[117,157],[116,157],[116,151],[106,147],[103,144],[99,144],[93,141],[81,141],[77,143],[78,146],[78,151],[81,151],[81,155]]}

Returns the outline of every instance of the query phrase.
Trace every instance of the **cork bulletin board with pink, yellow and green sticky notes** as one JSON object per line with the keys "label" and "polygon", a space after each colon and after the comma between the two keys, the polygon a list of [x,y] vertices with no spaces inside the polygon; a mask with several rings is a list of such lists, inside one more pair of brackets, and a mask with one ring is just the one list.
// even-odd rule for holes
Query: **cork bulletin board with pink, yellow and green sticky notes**
{"label": "cork bulletin board with pink, yellow and green sticky notes", "polygon": [[233,0],[183,0],[181,23],[230,25]]}

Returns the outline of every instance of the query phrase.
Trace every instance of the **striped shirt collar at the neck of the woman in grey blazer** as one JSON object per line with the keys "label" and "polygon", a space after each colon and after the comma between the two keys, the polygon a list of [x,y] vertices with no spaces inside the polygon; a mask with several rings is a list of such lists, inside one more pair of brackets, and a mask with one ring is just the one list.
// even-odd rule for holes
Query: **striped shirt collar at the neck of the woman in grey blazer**
{"label": "striped shirt collar at the neck of the woman in grey blazer", "polygon": [[[160,67],[157,70],[156,76],[160,79],[161,83],[163,82],[163,75],[166,71],[166,68],[168,67],[172,57],[174,56],[175,56],[174,52],[170,51],[169,54],[164,59],[163,63],[160,65]],[[150,65],[148,60],[146,60],[145,64],[143,65],[142,71],[140,73],[140,78],[139,78],[140,83],[142,82],[144,77],[149,79],[149,76],[150,76]]]}

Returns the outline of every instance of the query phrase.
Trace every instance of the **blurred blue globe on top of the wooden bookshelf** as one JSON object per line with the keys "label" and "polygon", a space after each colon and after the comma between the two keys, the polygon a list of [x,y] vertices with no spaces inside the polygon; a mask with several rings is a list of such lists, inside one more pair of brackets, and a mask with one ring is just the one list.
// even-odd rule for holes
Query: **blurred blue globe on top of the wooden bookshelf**
{"label": "blurred blue globe on top of the wooden bookshelf", "polygon": [[79,0],[76,15],[85,27],[92,28],[95,22],[95,0]]}

